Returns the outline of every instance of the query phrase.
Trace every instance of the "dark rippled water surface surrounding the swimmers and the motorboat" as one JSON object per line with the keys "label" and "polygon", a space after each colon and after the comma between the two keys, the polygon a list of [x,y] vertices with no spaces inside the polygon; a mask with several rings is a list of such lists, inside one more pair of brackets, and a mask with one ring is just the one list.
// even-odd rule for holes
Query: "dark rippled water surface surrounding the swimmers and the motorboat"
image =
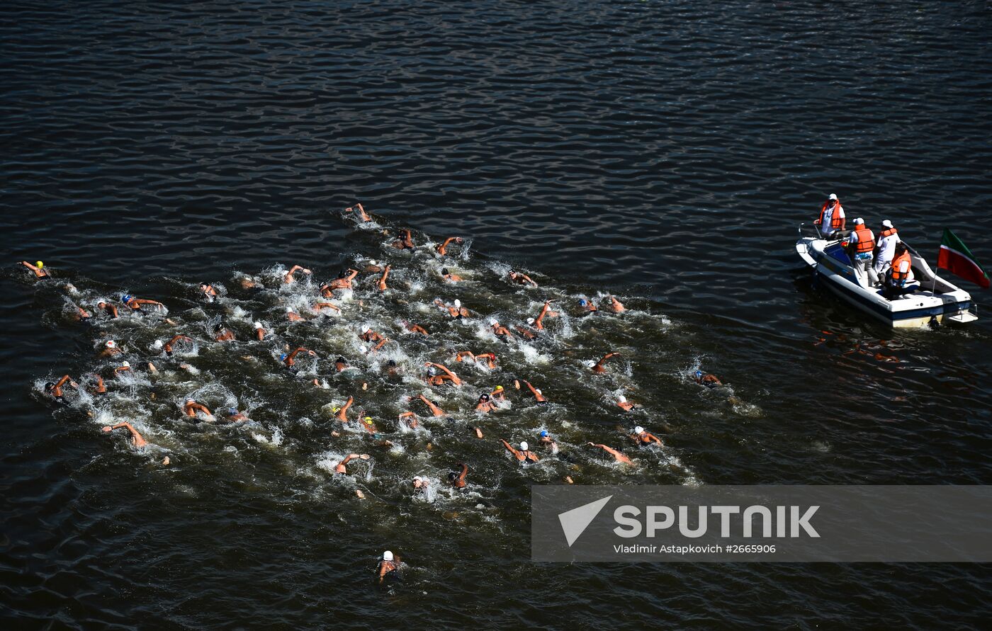
{"label": "dark rippled water surface surrounding the swimmers and the motorboat", "polygon": [[[87,306],[120,290],[162,300],[181,325],[71,322],[55,284],[6,266],[0,612],[16,628],[979,626],[987,566],[535,566],[528,487],[992,482],[987,320],[893,332],[811,287],[792,249],[836,192],[849,217],[890,218],[934,257],[948,226],[992,265],[988,6],[4,3],[5,260],[43,259]],[[469,237],[448,261],[469,281],[444,286],[429,248],[389,253],[353,229],[338,211],[355,200],[421,243]],[[279,266],[323,280],[355,256],[394,262],[394,289],[283,320],[315,292],[280,289]],[[542,287],[508,285],[508,265]],[[239,295],[235,270],[275,289]],[[219,306],[197,301],[201,280],[226,288]],[[534,348],[418,308],[461,298],[509,321],[604,292],[631,313],[563,309]],[[437,333],[399,338],[384,357],[409,372],[393,383],[354,329],[395,335],[402,317]],[[240,340],[266,318],[274,338],[206,341],[221,318]],[[199,340],[198,375],[163,361],[60,409],[38,392],[106,375],[93,346],[109,336],[137,366],[174,330]],[[284,341],[320,351],[304,372],[329,389],[279,371]],[[427,390],[418,364],[490,347],[499,370],[459,365],[470,387],[438,391],[454,422],[397,431],[402,397]],[[624,357],[610,374],[583,371],[611,348]],[[328,372],[337,353],[363,376]],[[700,365],[730,389],[692,384]],[[479,388],[517,376],[554,404],[472,418]],[[622,445],[634,422],[610,405],[619,392],[666,442],[635,468],[582,446]],[[394,448],[330,435],[328,405],[349,394]],[[253,421],[187,424],[186,396]],[[153,445],[100,433],[121,420]],[[569,459],[521,470],[495,442],[542,428]],[[372,468],[332,478],[351,450]],[[410,476],[459,460],[468,496],[410,499]],[[370,578],[386,548],[410,565],[393,592]]]}

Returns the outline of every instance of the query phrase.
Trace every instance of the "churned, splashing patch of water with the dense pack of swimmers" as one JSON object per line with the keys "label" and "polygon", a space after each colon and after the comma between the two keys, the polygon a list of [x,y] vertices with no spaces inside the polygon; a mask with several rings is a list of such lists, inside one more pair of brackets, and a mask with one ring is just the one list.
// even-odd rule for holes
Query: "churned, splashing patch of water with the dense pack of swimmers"
{"label": "churned, splashing patch of water with the dense pack of swimmers", "polygon": [[720,384],[688,356],[652,372],[680,351],[650,303],[569,292],[364,209],[342,217],[369,249],[326,282],[274,265],[174,281],[167,307],[39,281],[61,288],[60,321],[90,326],[92,346],[77,379],[36,390],[159,463],[263,449],[323,490],[369,499],[485,508],[507,476],[700,483],[668,438],[652,440],[669,430],[657,382]]}

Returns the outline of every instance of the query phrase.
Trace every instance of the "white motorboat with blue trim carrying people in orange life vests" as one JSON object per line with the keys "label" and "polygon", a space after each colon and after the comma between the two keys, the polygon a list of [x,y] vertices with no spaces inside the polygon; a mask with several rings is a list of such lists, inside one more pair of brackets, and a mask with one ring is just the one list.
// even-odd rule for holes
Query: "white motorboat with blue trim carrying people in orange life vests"
{"label": "white motorboat with blue trim carrying people in orange life vests", "polygon": [[[804,236],[796,251],[823,285],[841,300],[892,326],[919,328],[934,322],[964,324],[978,319],[971,313],[971,295],[935,275],[924,257],[912,247],[913,279],[904,294],[889,300],[883,288],[872,285],[867,275],[855,269],[845,250],[845,238]],[[905,241],[904,241],[905,243]]]}

